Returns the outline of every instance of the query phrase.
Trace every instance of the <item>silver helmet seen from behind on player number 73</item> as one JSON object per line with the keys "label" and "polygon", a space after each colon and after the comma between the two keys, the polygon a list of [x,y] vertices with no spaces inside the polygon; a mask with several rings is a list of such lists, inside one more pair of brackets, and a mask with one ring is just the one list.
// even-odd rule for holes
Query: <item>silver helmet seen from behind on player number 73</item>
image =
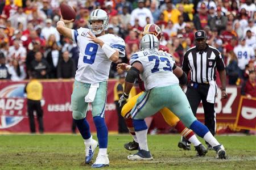
{"label": "silver helmet seen from behind on player number 73", "polygon": [[152,34],[146,34],[142,37],[141,43],[139,44],[140,50],[154,50],[159,49],[160,42],[158,37]]}

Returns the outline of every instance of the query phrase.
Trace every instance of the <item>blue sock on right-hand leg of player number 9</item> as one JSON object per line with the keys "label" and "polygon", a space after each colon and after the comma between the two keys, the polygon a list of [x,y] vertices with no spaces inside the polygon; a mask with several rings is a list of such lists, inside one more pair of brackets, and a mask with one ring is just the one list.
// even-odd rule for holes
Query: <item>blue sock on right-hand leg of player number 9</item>
{"label": "blue sock on right-hand leg of player number 9", "polygon": [[100,148],[108,147],[108,128],[105,124],[104,118],[100,116],[93,117],[94,125],[97,130],[98,146]]}

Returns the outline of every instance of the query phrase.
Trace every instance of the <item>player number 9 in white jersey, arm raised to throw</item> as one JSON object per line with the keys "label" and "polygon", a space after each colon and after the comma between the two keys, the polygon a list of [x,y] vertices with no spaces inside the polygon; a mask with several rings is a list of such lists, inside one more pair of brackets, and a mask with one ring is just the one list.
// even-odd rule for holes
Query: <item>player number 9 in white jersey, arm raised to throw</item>
{"label": "player number 9 in white jersey, arm raised to throw", "polygon": [[[99,145],[98,156],[92,167],[105,167],[109,165],[108,129],[104,120],[107,80],[111,63],[117,62],[119,56],[125,56],[125,42],[118,36],[105,34],[109,17],[104,10],[97,9],[90,13],[89,29],[75,30],[65,27],[65,24],[70,22],[73,20],[61,18],[57,22],[57,31],[79,46],[79,64],[71,96],[72,116],[84,139],[85,163],[91,162],[94,150]],[[85,119],[88,103],[92,104],[98,142],[92,138],[89,124]]]}

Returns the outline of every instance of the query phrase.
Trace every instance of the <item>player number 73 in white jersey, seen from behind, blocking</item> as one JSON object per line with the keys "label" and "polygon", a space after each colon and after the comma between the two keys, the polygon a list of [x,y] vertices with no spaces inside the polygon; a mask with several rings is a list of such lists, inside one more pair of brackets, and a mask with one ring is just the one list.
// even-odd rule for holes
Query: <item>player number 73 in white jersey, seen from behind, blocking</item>
{"label": "player number 73 in white jersey, seen from behind, blocking", "polygon": [[[135,134],[139,143],[137,154],[129,155],[129,160],[151,160],[152,156],[147,146],[147,125],[144,118],[152,116],[160,109],[167,107],[197,135],[213,146],[217,158],[225,159],[226,151],[210,133],[208,128],[197,121],[189,106],[188,99],[179,86],[179,79],[187,81],[187,75],[175,65],[170,54],[160,52],[159,40],[156,36],[147,34],[142,37],[141,52],[134,53],[130,59],[131,69],[126,75],[125,90],[119,102],[129,97],[134,80],[141,75],[146,91],[139,96],[131,111]],[[174,74],[175,73],[175,74]],[[176,76],[175,76],[176,75]]]}

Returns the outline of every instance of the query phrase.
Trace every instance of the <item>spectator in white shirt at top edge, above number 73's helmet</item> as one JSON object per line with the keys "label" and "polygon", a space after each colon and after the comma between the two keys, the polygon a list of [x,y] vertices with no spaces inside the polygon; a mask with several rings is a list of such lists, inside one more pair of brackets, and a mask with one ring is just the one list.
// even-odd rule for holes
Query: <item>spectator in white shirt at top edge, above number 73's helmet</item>
{"label": "spectator in white shirt at top edge, above number 73's helmet", "polygon": [[154,19],[152,16],[152,13],[148,8],[144,7],[144,0],[138,0],[138,8],[135,8],[131,12],[131,20],[130,24],[134,26],[135,20],[139,20],[139,25],[143,28],[147,23],[146,23],[146,18],[150,18],[150,23],[154,23]]}

